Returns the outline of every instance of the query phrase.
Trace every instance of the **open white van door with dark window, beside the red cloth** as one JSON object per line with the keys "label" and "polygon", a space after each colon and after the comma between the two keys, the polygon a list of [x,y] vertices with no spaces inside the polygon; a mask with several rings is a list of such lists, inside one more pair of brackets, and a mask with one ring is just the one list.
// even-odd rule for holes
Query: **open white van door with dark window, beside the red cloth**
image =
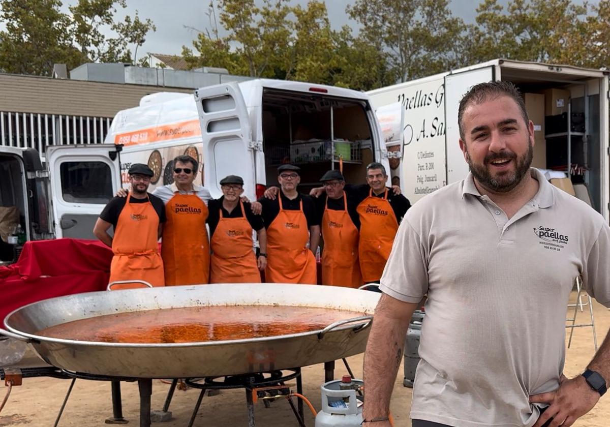
{"label": "open white van door with dark window, beside the red cloth", "polygon": [[118,147],[100,144],[46,149],[58,238],[96,239],[95,221],[120,187]]}

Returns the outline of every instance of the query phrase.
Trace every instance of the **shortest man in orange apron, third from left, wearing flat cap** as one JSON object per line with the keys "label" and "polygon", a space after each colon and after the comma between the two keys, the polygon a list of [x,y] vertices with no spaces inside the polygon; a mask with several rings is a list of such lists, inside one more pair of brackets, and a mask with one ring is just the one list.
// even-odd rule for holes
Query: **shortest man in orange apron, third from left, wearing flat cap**
{"label": "shortest man in orange apron, third from left, wearing flat cap", "polygon": [[[210,282],[260,283],[267,267],[267,232],[263,218],[242,201],[243,179],[229,175],[220,180],[223,196],[208,203],[210,215]],[[254,253],[252,231],[256,230],[260,253]]]}

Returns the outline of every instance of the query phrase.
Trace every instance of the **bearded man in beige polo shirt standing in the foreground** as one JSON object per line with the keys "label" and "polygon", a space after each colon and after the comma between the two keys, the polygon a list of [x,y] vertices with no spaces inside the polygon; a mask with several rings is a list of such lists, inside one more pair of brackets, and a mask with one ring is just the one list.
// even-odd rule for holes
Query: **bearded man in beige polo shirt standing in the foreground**
{"label": "bearded man in beige polo shirt standing in the foreground", "polygon": [[610,306],[608,223],[529,168],[533,124],[512,84],[473,87],[458,121],[471,173],[398,229],[365,354],[363,425],[390,425],[404,336],[427,295],[413,427],[570,426],[610,380],[608,338],[583,375],[562,375],[576,276]]}

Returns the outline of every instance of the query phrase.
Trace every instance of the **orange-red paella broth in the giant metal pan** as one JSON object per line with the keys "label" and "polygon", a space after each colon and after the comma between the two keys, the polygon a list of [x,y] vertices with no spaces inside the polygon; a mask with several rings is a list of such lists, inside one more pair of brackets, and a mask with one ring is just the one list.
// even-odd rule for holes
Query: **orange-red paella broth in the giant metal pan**
{"label": "orange-red paella broth in the giant metal pan", "polygon": [[300,306],[210,306],[90,317],[38,331],[45,337],[115,343],[185,343],[317,331],[362,312]]}

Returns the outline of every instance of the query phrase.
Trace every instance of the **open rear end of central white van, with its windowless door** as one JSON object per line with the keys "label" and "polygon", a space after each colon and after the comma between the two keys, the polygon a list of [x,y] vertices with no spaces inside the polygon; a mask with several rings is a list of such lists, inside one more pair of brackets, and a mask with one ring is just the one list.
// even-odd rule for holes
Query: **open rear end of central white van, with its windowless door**
{"label": "open rear end of central white van, with its windowless door", "polygon": [[318,186],[325,171],[343,170],[364,182],[365,167],[386,168],[381,127],[365,93],[324,85],[259,79],[195,91],[201,123],[204,182],[239,174],[249,198],[276,184],[282,163],[301,167],[301,191]]}

